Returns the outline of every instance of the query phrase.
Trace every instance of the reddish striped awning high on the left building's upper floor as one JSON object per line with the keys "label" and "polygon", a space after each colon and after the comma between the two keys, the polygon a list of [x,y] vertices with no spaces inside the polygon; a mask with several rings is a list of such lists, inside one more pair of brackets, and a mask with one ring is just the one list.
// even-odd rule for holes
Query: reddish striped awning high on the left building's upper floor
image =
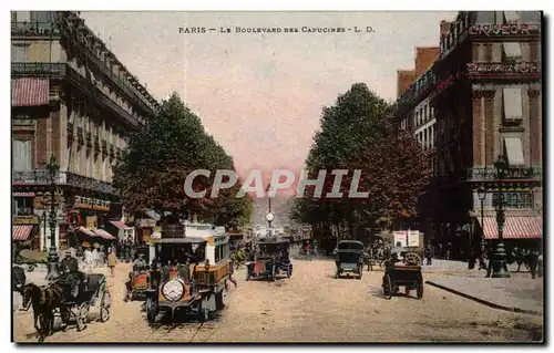
{"label": "reddish striped awning high on the left building's upper floor", "polygon": [[22,77],[11,80],[11,106],[48,105],[50,81]]}

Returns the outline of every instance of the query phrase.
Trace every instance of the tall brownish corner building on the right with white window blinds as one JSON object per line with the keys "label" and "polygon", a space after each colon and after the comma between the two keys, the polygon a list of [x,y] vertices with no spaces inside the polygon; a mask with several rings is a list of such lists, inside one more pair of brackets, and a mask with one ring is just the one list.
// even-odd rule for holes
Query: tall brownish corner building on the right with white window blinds
{"label": "tall brownish corner building on the right with white window blinds", "polygon": [[[452,243],[460,258],[483,238],[497,238],[500,193],[507,208],[506,241],[540,246],[541,20],[536,11],[460,12],[452,23],[441,23],[440,55],[425,73],[430,80],[419,79],[397,102],[399,116],[423,100],[433,108],[437,162],[425,221],[437,230],[434,240]],[[499,155],[510,165],[502,183],[494,172]],[[483,220],[480,187],[489,190]]]}

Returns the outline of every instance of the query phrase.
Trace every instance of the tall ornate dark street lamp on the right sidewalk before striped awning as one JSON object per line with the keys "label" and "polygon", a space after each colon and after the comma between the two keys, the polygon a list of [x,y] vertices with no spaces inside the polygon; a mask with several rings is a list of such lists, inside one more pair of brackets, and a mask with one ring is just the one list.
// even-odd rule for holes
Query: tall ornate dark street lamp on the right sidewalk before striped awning
{"label": "tall ornate dark street lamp on the right sidewalk before striped awning", "polygon": [[496,210],[496,225],[499,226],[499,242],[496,243],[496,249],[492,258],[492,278],[510,278],[506,264],[506,251],[503,243],[503,231],[504,231],[504,193],[502,191],[502,179],[504,179],[506,170],[509,168],[507,160],[505,156],[499,155],[497,159],[494,162],[494,169],[496,170],[496,184],[499,188],[496,205],[494,206]]}

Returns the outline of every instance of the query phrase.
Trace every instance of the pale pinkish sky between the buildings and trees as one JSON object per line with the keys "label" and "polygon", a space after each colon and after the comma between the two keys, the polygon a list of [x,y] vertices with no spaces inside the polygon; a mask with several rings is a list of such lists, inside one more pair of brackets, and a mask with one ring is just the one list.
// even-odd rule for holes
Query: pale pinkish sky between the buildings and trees
{"label": "pale pinkish sky between the buildings and trees", "polygon": [[[243,175],[299,170],[324,106],[353,83],[397,95],[416,46],[439,44],[455,12],[82,12],[155,98],[176,91]],[[346,28],[345,33],[244,33],[235,28]],[[372,33],[355,33],[366,27]],[[205,27],[179,34],[179,27]],[[219,27],[233,33],[219,33]],[[208,28],[217,31],[209,32]],[[348,31],[348,29],[351,29]],[[267,174],[267,176],[266,176]]]}

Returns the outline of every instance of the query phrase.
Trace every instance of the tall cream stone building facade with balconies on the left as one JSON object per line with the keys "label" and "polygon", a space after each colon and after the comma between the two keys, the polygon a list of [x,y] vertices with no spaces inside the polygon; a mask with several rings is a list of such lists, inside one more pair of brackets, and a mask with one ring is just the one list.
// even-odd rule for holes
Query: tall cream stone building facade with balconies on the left
{"label": "tall cream stone building facade with balconies on the left", "polygon": [[158,103],[69,11],[11,13],[11,86],[12,238],[33,237],[35,250],[50,247],[52,156],[60,165],[55,242],[68,246],[70,214],[80,241],[109,238],[103,228],[117,201],[112,167]]}

